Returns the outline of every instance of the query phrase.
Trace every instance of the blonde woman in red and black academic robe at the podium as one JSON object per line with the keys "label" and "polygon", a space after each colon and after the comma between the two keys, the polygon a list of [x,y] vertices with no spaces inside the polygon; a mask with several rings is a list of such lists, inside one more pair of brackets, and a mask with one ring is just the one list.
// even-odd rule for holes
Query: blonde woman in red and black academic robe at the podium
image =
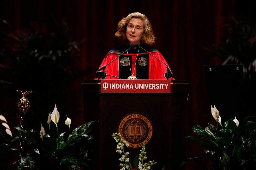
{"label": "blonde woman in red and black academic robe at the podium", "polygon": [[[120,54],[130,48],[131,44],[140,43],[141,47],[132,47],[127,52],[120,55],[118,59],[107,65],[107,75],[116,76],[121,79],[166,79],[166,65],[161,62],[163,61],[166,63],[166,61],[158,50],[149,46],[155,43],[155,37],[150,21],[144,14],[135,12],[129,14],[126,18],[123,18],[118,23],[115,36],[126,43],[110,50],[103,59],[100,67],[107,65],[117,58]],[[95,79],[101,78],[102,76],[103,70],[99,70]],[[107,76],[106,79],[117,78]]]}

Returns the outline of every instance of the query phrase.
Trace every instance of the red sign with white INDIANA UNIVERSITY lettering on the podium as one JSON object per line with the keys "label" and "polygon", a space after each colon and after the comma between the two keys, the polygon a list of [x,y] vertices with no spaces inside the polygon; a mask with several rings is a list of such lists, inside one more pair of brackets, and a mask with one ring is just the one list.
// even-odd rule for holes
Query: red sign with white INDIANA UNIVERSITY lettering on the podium
{"label": "red sign with white INDIANA UNIVERSITY lettering on the podium", "polygon": [[171,80],[101,80],[101,93],[170,93]]}

